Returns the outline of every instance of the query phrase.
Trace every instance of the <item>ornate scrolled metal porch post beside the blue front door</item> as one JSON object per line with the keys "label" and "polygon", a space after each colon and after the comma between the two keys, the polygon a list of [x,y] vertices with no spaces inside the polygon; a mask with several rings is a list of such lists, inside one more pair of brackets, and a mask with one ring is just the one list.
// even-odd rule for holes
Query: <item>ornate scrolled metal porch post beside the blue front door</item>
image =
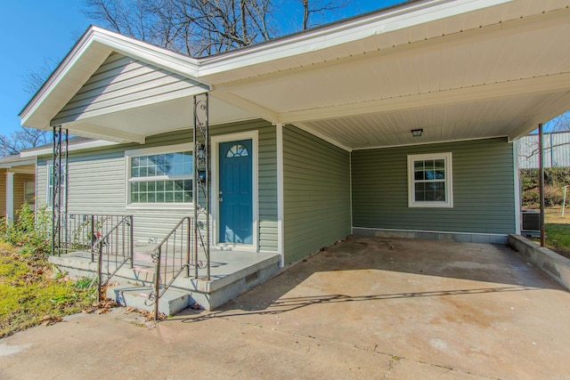
{"label": "ornate scrolled metal porch post beside the blue front door", "polygon": [[[192,201],[194,203],[194,277],[198,278],[198,246],[206,255],[208,279],[210,279],[210,214],[209,214],[209,125],[208,93],[194,96],[194,141]],[[201,197],[200,197],[201,195]],[[202,222],[201,219],[205,222]],[[204,240],[203,233],[206,233]],[[190,273],[188,273],[190,275]]]}

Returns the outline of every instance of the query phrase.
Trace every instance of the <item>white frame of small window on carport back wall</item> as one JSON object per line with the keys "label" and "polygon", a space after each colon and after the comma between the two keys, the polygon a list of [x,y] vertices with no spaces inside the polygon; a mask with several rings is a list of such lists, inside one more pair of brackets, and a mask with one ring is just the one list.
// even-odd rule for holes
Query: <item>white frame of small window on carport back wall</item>
{"label": "white frame of small window on carport back wall", "polygon": [[[428,159],[444,159],[445,165],[445,201],[416,201],[414,162]],[[408,207],[453,207],[452,152],[408,155]]]}

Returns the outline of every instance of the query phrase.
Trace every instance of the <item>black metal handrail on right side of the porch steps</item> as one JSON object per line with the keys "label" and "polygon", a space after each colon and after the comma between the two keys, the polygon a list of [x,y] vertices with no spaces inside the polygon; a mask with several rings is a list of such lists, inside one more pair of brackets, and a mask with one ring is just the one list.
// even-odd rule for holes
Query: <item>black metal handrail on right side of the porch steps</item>
{"label": "black metal handrail on right side of the porch steps", "polygon": [[191,267],[203,268],[203,263],[198,260],[196,250],[191,255],[192,220],[184,216],[180,222],[167,234],[165,239],[152,252],[152,261],[156,264],[154,288],[145,301],[147,306],[154,303],[154,319],[159,318],[159,299],[174,283],[175,279],[185,270],[186,277],[190,277]]}

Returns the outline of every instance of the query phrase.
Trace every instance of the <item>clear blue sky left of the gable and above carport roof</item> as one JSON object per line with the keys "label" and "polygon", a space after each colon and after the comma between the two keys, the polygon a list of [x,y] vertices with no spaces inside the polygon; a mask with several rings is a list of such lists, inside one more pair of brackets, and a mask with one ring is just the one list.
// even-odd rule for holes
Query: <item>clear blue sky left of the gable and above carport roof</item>
{"label": "clear blue sky left of the gable and above carport roof", "polygon": [[[339,17],[370,12],[402,0],[348,1]],[[45,61],[61,61],[92,20],[85,18],[81,0],[0,0],[0,134],[20,128],[20,110],[32,94],[24,91],[29,71]]]}

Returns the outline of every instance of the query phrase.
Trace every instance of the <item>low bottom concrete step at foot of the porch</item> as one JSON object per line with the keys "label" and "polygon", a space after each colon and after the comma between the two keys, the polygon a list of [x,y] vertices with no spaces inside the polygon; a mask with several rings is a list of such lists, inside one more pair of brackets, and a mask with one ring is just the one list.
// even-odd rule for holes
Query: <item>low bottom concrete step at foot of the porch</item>
{"label": "low bottom concrete step at foot of the porch", "polygon": [[[118,285],[107,289],[107,298],[115,300],[121,306],[134,307],[145,311],[154,311],[154,305],[144,303],[151,294],[151,287],[138,287],[135,285]],[[160,297],[159,311],[166,315],[174,315],[183,311],[195,301],[189,292],[168,289]]]}

